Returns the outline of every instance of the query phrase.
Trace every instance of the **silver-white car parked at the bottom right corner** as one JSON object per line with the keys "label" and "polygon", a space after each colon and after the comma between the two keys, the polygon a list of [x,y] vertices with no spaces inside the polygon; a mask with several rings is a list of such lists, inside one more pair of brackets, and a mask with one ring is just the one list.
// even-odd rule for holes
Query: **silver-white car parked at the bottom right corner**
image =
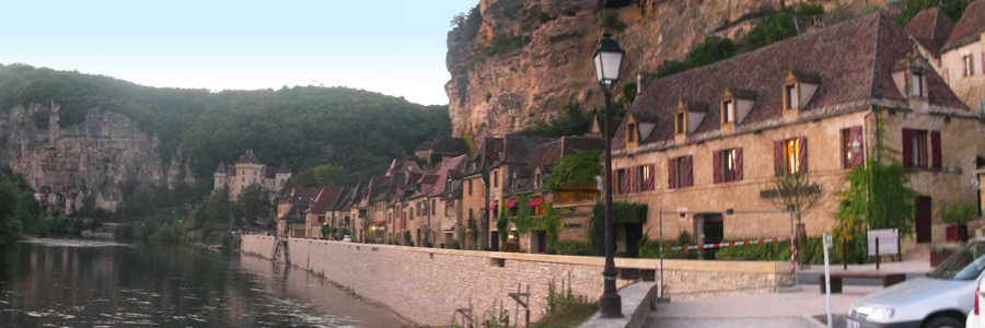
{"label": "silver-white car parked at the bottom right corner", "polygon": [[[985,271],[985,238],[972,241],[925,278],[862,296],[848,311],[848,328],[962,328],[970,297]],[[980,326],[970,326],[980,327]]]}

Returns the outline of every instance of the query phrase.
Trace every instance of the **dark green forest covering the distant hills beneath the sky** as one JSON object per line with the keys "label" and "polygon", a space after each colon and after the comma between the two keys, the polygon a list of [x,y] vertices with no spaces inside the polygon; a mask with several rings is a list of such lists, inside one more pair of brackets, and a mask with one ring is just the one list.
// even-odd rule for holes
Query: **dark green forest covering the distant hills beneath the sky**
{"label": "dark green forest covering the distant hills beneath the sky", "polygon": [[181,147],[194,176],[207,180],[220,161],[232,163],[246,149],[263,156],[262,162],[293,167],[331,159],[359,178],[385,169],[403,150],[451,131],[447,106],[421,106],[361,90],[296,86],[212,93],[0,65],[0,113],[51,101],[61,107],[60,126],[82,122],[96,107],[126,115],[158,137],[163,161]]}

